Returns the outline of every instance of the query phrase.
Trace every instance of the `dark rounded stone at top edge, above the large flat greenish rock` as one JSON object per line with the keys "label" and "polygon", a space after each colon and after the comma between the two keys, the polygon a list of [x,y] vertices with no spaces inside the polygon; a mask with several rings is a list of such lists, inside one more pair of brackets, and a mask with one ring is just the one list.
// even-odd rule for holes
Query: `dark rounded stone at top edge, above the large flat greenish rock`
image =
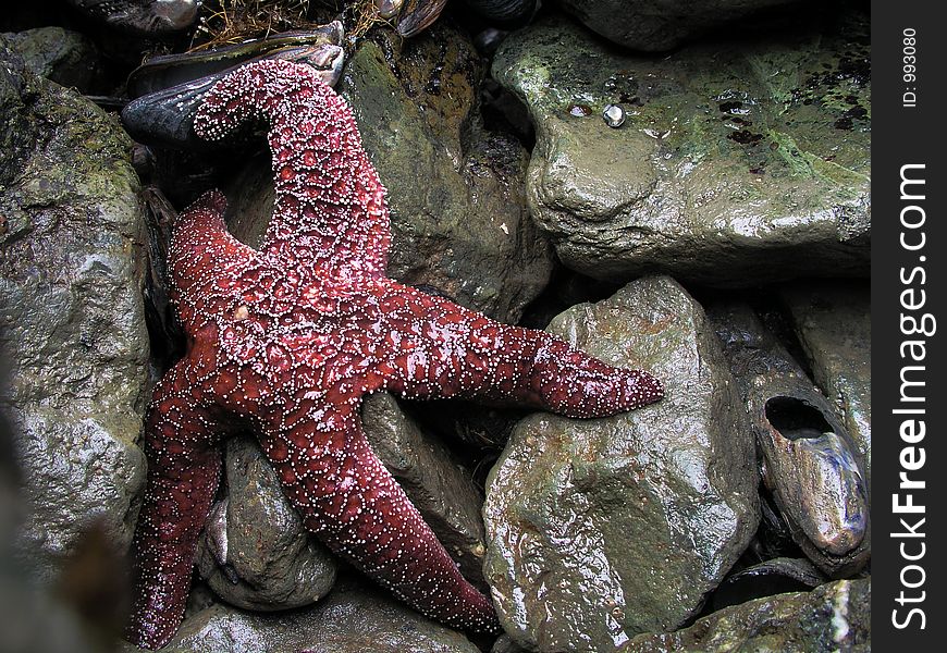
{"label": "dark rounded stone at top edge, above the large flat greenish rock", "polygon": [[798,0],[558,0],[590,29],[634,50],[671,50],[682,41]]}

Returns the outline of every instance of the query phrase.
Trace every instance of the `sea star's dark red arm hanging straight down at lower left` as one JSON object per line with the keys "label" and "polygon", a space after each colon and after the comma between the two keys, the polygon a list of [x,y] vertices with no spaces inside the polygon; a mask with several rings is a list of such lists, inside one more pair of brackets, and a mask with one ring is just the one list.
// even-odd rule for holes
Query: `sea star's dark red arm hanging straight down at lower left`
{"label": "sea star's dark red arm hanging straight down at lower left", "polygon": [[214,444],[223,429],[196,401],[197,377],[189,359],[179,362],[146,415],[148,481],[132,545],[135,602],[127,634],[149,649],[171,639],[184,617],[198,534],[220,477]]}

